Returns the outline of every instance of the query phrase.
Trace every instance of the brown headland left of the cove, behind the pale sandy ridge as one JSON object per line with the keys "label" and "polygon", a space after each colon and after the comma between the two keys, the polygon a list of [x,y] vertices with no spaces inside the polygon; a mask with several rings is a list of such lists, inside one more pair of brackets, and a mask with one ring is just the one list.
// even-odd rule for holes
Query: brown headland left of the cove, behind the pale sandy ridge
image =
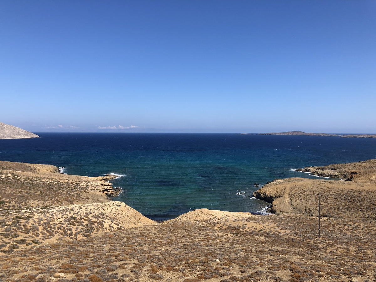
{"label": "brown headland left of the cove, behind the pale sandy ridge", "polygon": [[0,161],[2,208],[66,206],[110,200],[116,176],[87,177],[59,173],[53,165]]}

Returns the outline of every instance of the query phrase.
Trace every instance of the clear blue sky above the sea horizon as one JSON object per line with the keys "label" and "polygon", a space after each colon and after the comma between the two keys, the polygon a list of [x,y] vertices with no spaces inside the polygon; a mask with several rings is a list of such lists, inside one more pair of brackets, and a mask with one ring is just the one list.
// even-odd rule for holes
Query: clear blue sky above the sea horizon
{"label": "clear blue sky above the sea horizon", "polygon": [[376,133],[376,1],[3,0],[0,97],[32,132]]}

